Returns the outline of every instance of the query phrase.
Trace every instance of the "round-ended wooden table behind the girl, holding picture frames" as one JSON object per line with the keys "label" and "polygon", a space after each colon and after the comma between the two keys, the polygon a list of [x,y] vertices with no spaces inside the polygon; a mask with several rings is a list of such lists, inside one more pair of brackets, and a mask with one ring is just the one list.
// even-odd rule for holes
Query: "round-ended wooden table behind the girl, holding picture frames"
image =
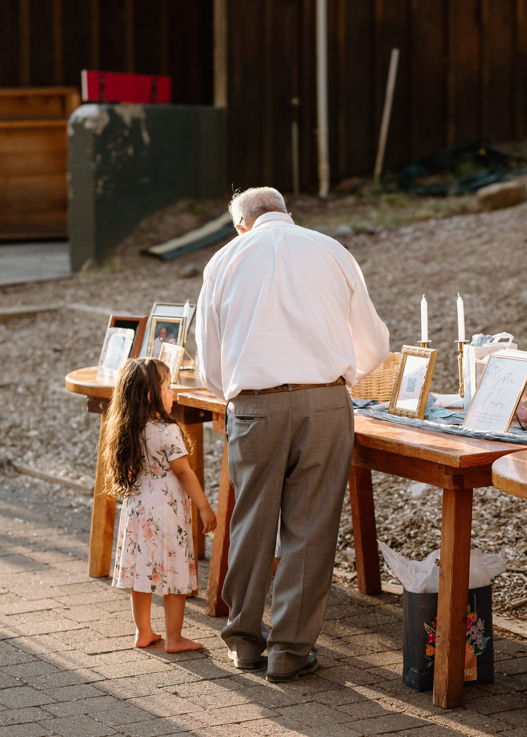
{"label": "round-ended wooden table behind the girl, holding picture frames", "polygon": [[[66,376],[66,389],[75,394],[86,396],[86,410],[100,414],[100,440],[104,437],[106,410],[115,387],[115,380],[97,377],[97,366],[79,368]],[[172,413],[179,424],[184,427],[193,447],[187,447],[190,467],[204,486],[203,472],[203,422],[212,419],[210,412],[203,409],[183,408],[177,402],[180,391],[194,391],[202,388],[199,374],[194,371],[180,371],[174,389]],[[204,391],[204,390],[202,390]],[[92,529],[89,539],[89,576],[108,576],[111,565],[111,548],[114,541],[116,500],[104,493],[103,464],[100,454],[97,455],[97,471],[95,473],[95,489],[92,510]],[[196,561],[205,555],[205,539],[202,525],[199,525],[199,514],[192,507],[192,532],[194,539],[194,556]],[[198,566],[196,565],[196,576]]]}

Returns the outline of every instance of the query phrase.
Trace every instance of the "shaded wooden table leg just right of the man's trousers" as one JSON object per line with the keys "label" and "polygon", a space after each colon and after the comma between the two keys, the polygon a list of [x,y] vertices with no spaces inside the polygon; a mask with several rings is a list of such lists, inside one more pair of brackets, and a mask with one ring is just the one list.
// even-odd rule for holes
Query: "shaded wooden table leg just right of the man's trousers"
{"label": "shaded wooden table leg just right of the man's trousers", "polygon": [[376,594],[381,590],[381,570],[371,470],[352,466],[349,483],[355,539],[356,581],[361,593]]}

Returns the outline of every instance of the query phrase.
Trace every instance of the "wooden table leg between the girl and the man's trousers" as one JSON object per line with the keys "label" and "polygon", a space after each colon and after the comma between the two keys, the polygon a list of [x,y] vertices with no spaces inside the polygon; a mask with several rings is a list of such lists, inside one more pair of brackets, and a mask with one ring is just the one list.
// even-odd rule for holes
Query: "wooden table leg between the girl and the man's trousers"
{"label": "wooden table leg between the girl and the man's trousers", "polygon": [[229,614],[227,604],[221,598],[227,568],[229,565],[230,518],[234,509],[234,489],[230,483],[228,467],[227,439],[221,462],[221,478],[218,492],[218,509],[216,520],[218,526],[214,532],[213,553],[210,556],[209,583],[205,612],[211,617],[224,617]]}

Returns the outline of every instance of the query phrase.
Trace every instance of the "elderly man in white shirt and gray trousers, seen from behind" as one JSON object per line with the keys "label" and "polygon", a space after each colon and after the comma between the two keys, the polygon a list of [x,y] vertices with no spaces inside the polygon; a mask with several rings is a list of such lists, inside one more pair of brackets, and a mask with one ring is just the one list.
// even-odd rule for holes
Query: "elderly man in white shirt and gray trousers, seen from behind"
{"label": "elderly man in white shirt and gray trousers, seen from behind", "polygon": [[203,383],[227,400],[236,500],[221,638],[238,668],[267,649],[266,678],[283,682],[318,667],[354,444],[345,385],[382,363],[388,331],[354,257],[295,226],[276,189],[236,194],[230,213],[238,237],[204,270],[196,329]]}

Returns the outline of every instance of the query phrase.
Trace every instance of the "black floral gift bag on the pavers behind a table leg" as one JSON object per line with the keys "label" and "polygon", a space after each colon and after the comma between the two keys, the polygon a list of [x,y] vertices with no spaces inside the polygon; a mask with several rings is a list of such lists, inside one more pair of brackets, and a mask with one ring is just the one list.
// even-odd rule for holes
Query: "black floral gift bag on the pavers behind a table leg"
{"label": "black floral gift bag on the pavers behind a table leg", "polygon": [[[402,680],[416,691],[434,685],[438,594],[403,590]],[[465,682],[494,682],[492,585],[469,589],[466,619]]]}

